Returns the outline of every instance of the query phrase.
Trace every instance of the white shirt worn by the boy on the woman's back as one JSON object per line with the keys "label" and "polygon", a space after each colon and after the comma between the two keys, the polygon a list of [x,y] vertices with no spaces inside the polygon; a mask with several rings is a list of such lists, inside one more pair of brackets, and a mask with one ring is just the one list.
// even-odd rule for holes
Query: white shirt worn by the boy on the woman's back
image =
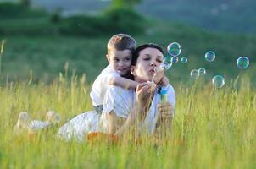
{"label": "white shirt worn by the boy on the woman's back", "polygon": [[90,93],[93,106],[103,105],[104,97],[109,89],[109,80],[114,77],[120,77],[120,74],[114,71],[110,64],[97,76]]}

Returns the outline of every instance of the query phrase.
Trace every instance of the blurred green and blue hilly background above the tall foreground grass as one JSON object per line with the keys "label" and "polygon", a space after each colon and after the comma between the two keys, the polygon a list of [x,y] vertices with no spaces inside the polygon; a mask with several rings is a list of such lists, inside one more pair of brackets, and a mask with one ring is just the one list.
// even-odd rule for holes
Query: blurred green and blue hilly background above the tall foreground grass
{"label": "blurred green and blue hilly background above the tall foreground grass", "polygon": [[[111,35],[127,33],[138,44],[181,44],[188,63],[166,72],[171,83],[186,83],[193,68],[206,68],[234,79],[248,74],[256,81],[256,2],[193,0],[16,0],[0,1],[0,80],[51,82],[60,72],[86,74],[92,82],[108,64],[106,45]],[[213,50],[208,63],[204,53]],[[166,52],[166,50],[165,50]],[[247,56],[247,69],[237,68]]]}

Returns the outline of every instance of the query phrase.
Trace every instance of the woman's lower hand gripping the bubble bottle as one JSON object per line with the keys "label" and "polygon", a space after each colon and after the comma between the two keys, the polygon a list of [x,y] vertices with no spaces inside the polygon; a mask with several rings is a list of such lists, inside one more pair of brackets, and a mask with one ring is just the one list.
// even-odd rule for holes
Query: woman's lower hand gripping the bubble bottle
{"label": "woman's lower hand gripping the bubble bottle", "polygon": [[158,105],[158,109],[159,109],[159,117],[161,119],[172,118],[174,116],[175,108],[170,104],[170,102],[160,103]]}

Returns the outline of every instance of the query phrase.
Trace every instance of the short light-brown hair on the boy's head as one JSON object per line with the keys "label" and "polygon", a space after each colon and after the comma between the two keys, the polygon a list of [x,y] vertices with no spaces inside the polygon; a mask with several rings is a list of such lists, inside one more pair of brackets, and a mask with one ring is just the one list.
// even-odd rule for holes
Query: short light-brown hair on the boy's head
{"label": "short light-brown hair on the boy's head", "polygon": [[108,53],[113,49],[118,51],[130,50],[134,52],[136,48],[136,41],[131,35],[117,34],[113,35],[108,42]]}

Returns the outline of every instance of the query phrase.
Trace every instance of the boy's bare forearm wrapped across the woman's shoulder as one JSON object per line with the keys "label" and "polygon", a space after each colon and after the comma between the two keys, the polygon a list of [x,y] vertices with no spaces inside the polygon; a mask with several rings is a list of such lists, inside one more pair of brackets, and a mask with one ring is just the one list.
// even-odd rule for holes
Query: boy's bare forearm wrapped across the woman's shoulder
{"label": "boy's bare forearm wrapped across the woman's shoulder", "polygon": [[136,89],[136,85],[138,84],[139,83],[134,80],[123,77],[112,77],[109,79],[109,85],[116,85],[124,89]]}

